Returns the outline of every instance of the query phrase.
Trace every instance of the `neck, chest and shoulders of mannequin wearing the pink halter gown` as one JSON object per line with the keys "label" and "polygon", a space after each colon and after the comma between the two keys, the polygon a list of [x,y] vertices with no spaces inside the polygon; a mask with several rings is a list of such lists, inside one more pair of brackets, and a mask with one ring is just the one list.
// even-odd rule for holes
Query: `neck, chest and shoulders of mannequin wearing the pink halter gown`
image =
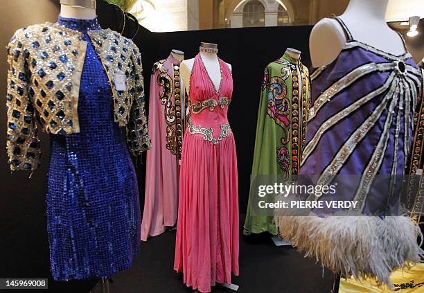
{"label": "neck, chest and shoulders of mannequin wearing the pink halter gown", "polygon": [[[212,50],[218,51],[217,44],[202,42],[200,43],[200,46],[203,48],[211,48]],[[204,63],[204,66],[206,67],[206,71],[208,71],[213,85],[215,86],[215,89],[218,91],[221,82],[221,71],[220,64],[218,63],[217,53],[200,52],[200,56],[202,57],[202,61]],[[184,88],[186,89],[187,93],[190,93],[190,76],[191,70],[193,69],[194,60],[194,58],[184,60],[183,62],[181,62],[180,66],[180,74],[182,77],[182,81],[184,82]],[[231,64],[227,63],[227,65],[229,66],[229,69],[231,71]]]}

